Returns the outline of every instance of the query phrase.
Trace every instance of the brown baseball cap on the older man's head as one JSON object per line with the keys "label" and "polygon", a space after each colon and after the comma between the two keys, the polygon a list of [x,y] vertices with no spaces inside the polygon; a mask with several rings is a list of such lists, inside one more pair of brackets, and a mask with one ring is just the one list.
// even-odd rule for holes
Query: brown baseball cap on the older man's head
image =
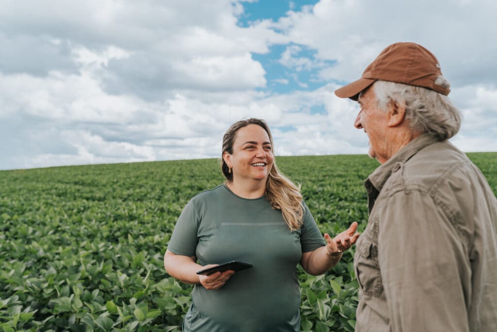
{"label": "brown baseball cap on the older man's head", "polygon": [[437,58],[426,48],[415,43],[395,43],[367,66],[360,79],[335,90],[335,95],[357,101],[359,93],[378,80],[414,85],[448,95],[450,89],[435,84],[440,75]]}

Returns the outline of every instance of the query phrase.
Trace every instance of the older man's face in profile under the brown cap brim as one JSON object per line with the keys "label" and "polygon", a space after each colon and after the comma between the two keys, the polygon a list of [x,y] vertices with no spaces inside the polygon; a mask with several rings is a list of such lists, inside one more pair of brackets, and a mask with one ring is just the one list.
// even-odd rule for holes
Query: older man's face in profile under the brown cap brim
{"label": "older man's face in profile under the brown cap brim", "polygon": [[373,86],[364,90],[358,100],[361,110],[354,122],[357,129],[364,129],[369,138],[368,155],[376,158],[381,164],[386,162],[388,155],[388,144],[385,137],[387,130],[387,111],[380,110],[376,106],[376,97]]}

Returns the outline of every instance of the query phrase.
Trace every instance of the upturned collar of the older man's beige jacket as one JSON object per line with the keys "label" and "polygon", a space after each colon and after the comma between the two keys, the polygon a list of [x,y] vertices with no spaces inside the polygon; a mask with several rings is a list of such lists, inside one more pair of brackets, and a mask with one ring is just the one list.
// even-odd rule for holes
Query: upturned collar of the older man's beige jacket
{"label": "upturned collar of the older man's beige jacket", "polygon": [[[371,175],[369,175],[369,182],[376,188],[378,192],[381,191],[385,182],[392,174],[392,169],[398,163],[404,164],[412,156],[414,156],[419,150],[425,148],[428,145],[437,142],[437,139],[429,134],[422,134],[414,138],[406,146],[401,148],[399,152],[393,155],[387,162],[378,167]],[[366,181],[368,181],[366,180]]]}

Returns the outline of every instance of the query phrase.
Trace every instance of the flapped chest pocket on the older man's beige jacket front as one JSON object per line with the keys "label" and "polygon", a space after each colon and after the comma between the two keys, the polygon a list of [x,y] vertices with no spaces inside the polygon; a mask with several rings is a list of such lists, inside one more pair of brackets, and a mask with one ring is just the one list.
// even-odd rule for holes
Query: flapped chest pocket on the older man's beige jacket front
{"label": "flapped chest pocket on the older man's beige jacket front", "polygon": [[359,238],[354,257],[354,271],[359,288],[366,297],[378,297],[383,293],[378,249],[367,237]]}

